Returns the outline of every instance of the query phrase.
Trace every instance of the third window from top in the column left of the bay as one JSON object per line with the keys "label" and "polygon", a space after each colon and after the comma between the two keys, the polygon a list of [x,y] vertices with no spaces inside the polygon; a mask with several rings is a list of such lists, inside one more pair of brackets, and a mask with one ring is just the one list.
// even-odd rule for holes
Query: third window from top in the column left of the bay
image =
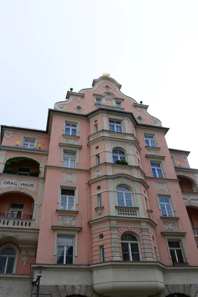
{"label": "third window from top in the column left of the bay", "polygon": [[74,210],[75,190],[61,189],[60,209]]}

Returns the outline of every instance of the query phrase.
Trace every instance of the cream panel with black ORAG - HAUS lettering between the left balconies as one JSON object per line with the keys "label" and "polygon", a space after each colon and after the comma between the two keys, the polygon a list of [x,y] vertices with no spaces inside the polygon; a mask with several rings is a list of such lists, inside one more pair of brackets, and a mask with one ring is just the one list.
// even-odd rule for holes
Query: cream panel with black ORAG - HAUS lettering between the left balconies
{"label": "cream panel with black ORAG - HAUS lettering between the left balconies", "polygon": [[16,180],[8,180],[5,178],[1,178],[0,182],[0,190],[15,188],[16,190],[27,189],[30,192],[37,192],[37,182],[32,181],[23,181],[22,178],[18,178]]}

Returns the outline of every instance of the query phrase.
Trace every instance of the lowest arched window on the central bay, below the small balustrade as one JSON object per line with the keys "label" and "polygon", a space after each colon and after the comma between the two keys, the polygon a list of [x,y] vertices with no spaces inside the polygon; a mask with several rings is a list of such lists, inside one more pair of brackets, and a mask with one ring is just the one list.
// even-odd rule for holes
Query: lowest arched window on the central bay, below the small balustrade
{"label": "lowest arched window on the central bay, below the small balustrade", "polygon": [[123,261],[140,261],[138,241],[132,234],[124,234],[121,237]]}

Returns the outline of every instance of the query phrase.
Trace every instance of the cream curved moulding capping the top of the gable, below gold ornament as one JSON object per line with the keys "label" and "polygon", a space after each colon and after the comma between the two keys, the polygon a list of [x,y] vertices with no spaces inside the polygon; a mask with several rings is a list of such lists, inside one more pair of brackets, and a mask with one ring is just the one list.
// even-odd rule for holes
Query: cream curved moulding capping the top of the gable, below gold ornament
{"label": "cream curved moulding capping the top of the gable, below gold ornament", "polygon": [[106,82],[107,84],[108,84],[108,83],[111,83],[111,84],[115,87],[115,89],[117,90],[117,92],[118,92],[121,96],[123,96],[124,98],[129,99],[129,100],[131,100],[131,101],[133,101],[133,102],[135,102],[135,103],[138,103],[135,99],[133,99],[133,98],[131,98],[131,97],[129,97],[129,96],[124,95],[124,94],[120,91],[122,85],[118,84],[118,82],[116,82],[116,80],[114,80],[112,77],[108,77],[108,76],[100,76],[98,79],[94,79],[94,80],[93,80],[93,83],[92,83],[92,87],[93,87],[93,88],[82,89],[82,90],[79,91],[79,93],[84,93],[84,92],[88,92],[88,91],[94,91],[94,90],[97,89],[97,87],[98,87],[101,83],[104,83],[104,82]]}

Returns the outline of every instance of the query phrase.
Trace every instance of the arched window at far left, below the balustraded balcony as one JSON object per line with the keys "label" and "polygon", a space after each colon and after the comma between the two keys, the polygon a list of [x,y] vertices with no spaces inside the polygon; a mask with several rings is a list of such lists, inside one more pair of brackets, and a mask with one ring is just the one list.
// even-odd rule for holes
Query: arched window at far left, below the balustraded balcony
{"label": "arched window at far left, below the balustraded balcony", "polygon": [[12,274],[16,251],[13,248],[4,248],[0,251],[0,273]]}

